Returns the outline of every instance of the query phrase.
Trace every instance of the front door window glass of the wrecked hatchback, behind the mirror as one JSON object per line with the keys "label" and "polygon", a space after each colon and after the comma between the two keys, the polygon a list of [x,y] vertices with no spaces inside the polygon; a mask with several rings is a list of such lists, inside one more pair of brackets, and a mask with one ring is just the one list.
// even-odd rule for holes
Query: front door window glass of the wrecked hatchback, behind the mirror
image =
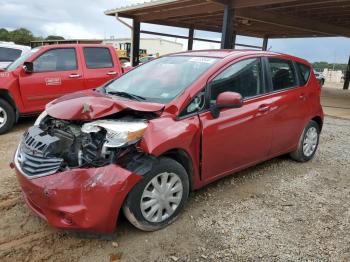
{"label": "front door window glass of the wrecked hatchback, behind the mirror", "polygon": [[227,91],[240,93],[243,98],[263,94],[261,59],[239,61],[216,76],[211,83],[211,103]]}

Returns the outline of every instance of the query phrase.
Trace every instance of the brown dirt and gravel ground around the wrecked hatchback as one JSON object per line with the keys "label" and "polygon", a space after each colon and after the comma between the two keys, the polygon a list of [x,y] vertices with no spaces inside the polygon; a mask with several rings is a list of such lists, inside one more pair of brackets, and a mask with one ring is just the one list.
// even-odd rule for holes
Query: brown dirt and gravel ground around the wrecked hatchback
{"label": "brown dirt and gravel ground around the wrecked hatchback", "polygon": [[164,230],[121,217],[112,236],[53,229],[25,206],[8,164],[33,121],[0,137],[1,261],[350,260],[349,120],[326,118],[311,162],[262,163],[194,192]]}

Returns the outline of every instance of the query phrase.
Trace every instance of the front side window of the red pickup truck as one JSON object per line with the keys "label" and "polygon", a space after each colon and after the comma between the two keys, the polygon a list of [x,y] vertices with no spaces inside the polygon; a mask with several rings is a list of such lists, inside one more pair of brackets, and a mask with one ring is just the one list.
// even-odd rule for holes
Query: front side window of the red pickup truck
{"label": "front side window of the red pickup truck", "polygon": [[75,48],[57,48],[49,50],[33,62],[34,72],[76,70]]}

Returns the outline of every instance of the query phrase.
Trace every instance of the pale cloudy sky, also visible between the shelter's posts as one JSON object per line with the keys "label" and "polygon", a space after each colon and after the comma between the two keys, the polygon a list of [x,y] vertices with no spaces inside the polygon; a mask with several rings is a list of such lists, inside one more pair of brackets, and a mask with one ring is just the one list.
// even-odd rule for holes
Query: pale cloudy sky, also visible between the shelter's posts
{"label": "pale cloudy sky, also visible between the shelter's posts", "polygon": [[[143,0],[0,0],[0,28],[13,30],[25,27],[37,36],[62,35],[65,38],[92,39],[130,37],[130,30],[114,17],[104,15],[107,9]],[[186,29],[143,24],[144,30],[187,35]],[[219,33],[196,31],[196,37],[220,40]],[[154,37],[142,35],[141,37]],[[168,38],[169,39],[169,38]],[[181,42],[186,40],[169,39]],[[237,43],[262,45],[262,40],[237,37]],[[206,42],[194,43],[194,49],[218,48]],[[306,38],[270,40],[269,49],[305,58],[311,62],[347,63],[350,56],[350,38]]]}

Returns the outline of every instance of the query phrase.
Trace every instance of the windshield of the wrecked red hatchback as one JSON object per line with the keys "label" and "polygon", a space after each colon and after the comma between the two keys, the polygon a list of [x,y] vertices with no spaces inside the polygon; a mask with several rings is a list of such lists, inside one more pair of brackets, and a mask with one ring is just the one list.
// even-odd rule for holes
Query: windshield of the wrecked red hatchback
{"label": "windshield of the wrecked red hatchback", "polygon": [[106,86],[110,94],[166,104],[188,88],[219,59],[167,56],[135,68]]}

